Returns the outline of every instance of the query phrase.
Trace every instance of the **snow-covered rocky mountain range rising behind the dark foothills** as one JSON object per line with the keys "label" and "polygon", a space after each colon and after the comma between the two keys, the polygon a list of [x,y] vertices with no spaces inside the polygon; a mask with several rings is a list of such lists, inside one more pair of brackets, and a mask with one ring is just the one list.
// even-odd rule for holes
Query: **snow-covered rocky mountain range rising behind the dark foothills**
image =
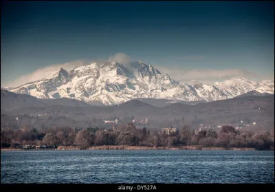
{"label": "snow-covered rocky mountain range rising behind the dark foothills", "polygon": [[161,98],[183,101],[213,101],[233,98],[250,91],[274,94],[274,81],[256,83],[235,78],[219,83],[178,83],[162,74],[153,65],[142,61],[122,65],[109,60],[103,65],[60,70],[19,87],[6,88],[10,92],[29,94],[37,98],[74,98],[89,104],[115,105],[133,98]]}

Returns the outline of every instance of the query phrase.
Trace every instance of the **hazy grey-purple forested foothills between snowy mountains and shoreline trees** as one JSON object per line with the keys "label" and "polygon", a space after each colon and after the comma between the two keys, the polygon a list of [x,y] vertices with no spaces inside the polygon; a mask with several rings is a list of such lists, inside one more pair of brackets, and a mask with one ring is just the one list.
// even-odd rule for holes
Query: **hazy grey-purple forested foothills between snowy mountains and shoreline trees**
{"label": "hazy grey-purple forested foothills between snowy mountains and shoreline trees", "polygon": [[[21,126],[31,127],[87,127],[90,124],[109,128],[103,119],[117,117],[122,122],[129,122],[129,117],[133,116],[137,122],[147,117],[150,125],[140,125],[146,127],[164,127],[169,124],[175,127],[186,124],[194,128],[200,124],[238,125],[240,120],[246,126],[256,122],[256,125],[267,129],[274,127],[274,95],[244,95],[197,105],[173,103],[162,107],[153,106],[155,100],[157,99],[146,100],[144,103],[133,99],[120,105],[96,107],[69,98],[56,99],[56,103],[52,103],[55,100],[1,90],[1,126],[19,126],[20,122]],[[160,101],[162,100],[157,100]],[[258,109],[260,107],[265,110]]]}

